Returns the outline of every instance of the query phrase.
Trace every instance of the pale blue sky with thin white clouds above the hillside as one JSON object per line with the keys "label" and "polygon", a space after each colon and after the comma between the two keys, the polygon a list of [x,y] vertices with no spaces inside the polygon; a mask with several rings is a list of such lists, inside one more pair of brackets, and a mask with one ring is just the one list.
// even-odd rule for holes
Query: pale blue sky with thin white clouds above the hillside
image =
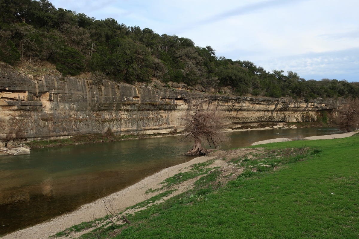
{"label": "pale blue sky with thin white clouds above the hillside", "polygon": [[[51,1],[51,0],[50,0]],[[359,81],[358,0],[52,0],[306,80]]]}

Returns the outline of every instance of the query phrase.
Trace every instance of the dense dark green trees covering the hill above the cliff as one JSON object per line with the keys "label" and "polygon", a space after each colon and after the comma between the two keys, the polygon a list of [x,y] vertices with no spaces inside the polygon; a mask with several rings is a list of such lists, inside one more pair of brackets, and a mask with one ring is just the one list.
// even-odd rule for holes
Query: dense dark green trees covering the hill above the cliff
{"label": "dense dark green trees covering the hill above the cliff", "polygon": [[292,71],[267,72],[250,61],[217,57],[210,46],[195,46],[188,38],[127,27],[112,18],[96,20],[56,9],[47,0],[0,0],[0,34],[2,61],[49,61],[63,76],[90,71],[127,83],[157,78],[190,86],[227,86],[238,95],[359,96],[358,82],[306,81]]}

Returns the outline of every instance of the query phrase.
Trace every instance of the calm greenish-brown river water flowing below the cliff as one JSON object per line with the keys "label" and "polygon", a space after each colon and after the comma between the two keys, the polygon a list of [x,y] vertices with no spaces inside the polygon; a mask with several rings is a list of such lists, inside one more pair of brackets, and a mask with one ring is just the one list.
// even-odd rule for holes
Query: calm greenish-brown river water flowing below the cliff
{"label": "calm greenish-brown river water flowing below the cliff", "polygon": [[[276,133],[279,133],[276,134]],[[336,128],[251,130],[229,133],[236,148],[272,138],[342,133]],[[180,137],[34,148],[0,156],[0,235],[75,210],[164,168],[190,161]]]}

